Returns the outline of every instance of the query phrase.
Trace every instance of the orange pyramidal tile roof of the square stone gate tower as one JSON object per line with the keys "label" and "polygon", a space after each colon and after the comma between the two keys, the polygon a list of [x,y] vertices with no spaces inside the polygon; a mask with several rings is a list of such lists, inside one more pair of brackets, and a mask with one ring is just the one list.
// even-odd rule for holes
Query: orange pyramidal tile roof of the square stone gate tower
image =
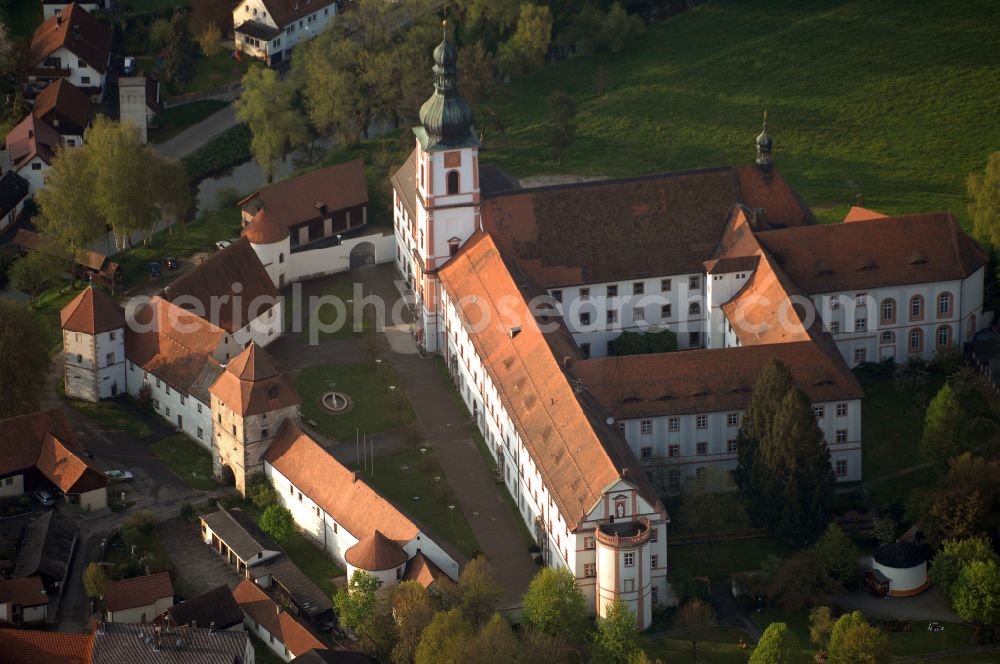
{"label": "orange pyramidal tile roof of the square stone gate tower", "polygon": [[255,342],[226,366],[209,392],[244,417],[302,403],[288,374]]}

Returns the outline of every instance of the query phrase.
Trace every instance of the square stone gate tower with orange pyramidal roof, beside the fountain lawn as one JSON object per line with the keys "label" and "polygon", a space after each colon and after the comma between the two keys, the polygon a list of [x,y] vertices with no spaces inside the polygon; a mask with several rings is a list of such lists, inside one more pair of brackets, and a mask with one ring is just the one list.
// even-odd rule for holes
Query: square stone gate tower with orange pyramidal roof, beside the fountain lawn
{"label": "square stone gate tower with orange pyramidal roof, beside the fountain lawn", "polygon": [[213,471],[246,495],[247,479],[264,472],[264,452],[281,423],[299,423],[302,399],[288,375],[256,343],[237,355],[208,391]]}

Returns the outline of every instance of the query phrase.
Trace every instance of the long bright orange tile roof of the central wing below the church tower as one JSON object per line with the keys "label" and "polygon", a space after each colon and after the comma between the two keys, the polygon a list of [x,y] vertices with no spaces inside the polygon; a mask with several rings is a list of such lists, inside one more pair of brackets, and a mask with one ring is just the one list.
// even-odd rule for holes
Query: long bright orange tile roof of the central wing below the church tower
{"label": "long bright orange tile roof of the central wing below the church tower", "polygon": [[438,274],[570,529],[626,476],[659,505],[621,434],[577,399],[492,237],[473,236]]}

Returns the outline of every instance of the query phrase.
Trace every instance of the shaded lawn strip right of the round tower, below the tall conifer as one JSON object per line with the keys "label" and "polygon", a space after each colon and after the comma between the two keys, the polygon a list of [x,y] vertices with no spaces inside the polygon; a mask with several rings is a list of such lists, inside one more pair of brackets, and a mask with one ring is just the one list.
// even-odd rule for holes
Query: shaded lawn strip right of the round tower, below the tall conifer
{"label": "shaded lawn strip right of the round tower, below the tall conifer", "polygon": [[791,552],[792,549],[779,539],[758,538],[712,544],[671,544],[668,554],[672,575],[707,576],[728,582],[733,572],[759,569],[760,561],[769,554],[784,558]]}

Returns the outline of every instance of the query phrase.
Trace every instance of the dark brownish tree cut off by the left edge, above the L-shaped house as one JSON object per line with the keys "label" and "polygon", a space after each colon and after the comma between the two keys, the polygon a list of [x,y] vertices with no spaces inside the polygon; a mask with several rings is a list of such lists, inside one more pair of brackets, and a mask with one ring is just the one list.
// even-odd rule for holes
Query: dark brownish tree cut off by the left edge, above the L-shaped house
{"label": "dark brownish tree cut off by the left edge, above the L-shaped house", "polygon": [[49,349],[27,307],[0,298],[0,419],[37,410]]}

